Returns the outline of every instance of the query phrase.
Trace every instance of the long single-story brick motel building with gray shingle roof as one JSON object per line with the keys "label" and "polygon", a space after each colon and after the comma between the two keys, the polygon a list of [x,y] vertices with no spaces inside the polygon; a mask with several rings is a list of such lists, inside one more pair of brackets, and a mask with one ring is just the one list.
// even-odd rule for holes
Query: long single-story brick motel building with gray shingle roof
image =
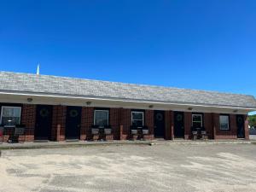
{"label": "long single-story brick motel building with gray shingle roof", "polygon": [[253,96],[141,84],[0,73],[0,124],[7,141],[24,125],[26,141],[96,140],[93,129],[110,129],[108,140],[191,139],[192,131],[210,139],[248,139],[247,113]]}

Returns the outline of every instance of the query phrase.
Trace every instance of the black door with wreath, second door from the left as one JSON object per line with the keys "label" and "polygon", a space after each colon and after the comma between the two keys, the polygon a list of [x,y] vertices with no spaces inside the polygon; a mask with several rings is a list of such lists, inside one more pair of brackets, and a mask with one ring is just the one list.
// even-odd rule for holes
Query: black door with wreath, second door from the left
{"label": "black door with wreath, second door from the left", "polygon": [[79,139],[81,124],[81,108],[67,107],[66,139]]}

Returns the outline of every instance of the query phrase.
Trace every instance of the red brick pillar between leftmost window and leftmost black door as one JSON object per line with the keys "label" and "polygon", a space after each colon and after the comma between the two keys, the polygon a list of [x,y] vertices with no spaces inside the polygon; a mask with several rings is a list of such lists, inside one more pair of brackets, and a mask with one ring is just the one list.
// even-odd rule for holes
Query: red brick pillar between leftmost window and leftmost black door
{"label": "red brick pillar between leftmost window and leftmost black door", "polygon": [[34,132],[36,125],[37,106],[31,104],[23,104],[21,110],[21,124],[26,125],[25,140],[26,142],[34,141]]}

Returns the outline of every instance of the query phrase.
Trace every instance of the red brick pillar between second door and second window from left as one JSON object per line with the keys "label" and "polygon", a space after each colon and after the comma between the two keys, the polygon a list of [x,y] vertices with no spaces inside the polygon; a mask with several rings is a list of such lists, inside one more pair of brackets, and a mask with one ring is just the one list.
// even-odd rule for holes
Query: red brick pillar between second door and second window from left
{"label": "red brick pillar between second door and second window from left", "polygon": [[80,131],[81,140],[92,139],[90,128],[91,128],[91,125],[93,125],[93,115],[94,115],[94,108],[91,108],[91,107],[82,108],[81,131]]}

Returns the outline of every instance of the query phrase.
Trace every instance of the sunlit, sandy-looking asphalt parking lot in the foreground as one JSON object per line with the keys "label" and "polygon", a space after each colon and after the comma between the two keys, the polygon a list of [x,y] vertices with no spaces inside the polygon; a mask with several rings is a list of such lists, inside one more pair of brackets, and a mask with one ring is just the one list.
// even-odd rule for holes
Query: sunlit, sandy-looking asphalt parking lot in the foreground
{"label": "sunlit, sandy-looking asphalt parking lot in the foreground", "polygon": [[0,191],[256,191],[256,145],[3,150]]}

